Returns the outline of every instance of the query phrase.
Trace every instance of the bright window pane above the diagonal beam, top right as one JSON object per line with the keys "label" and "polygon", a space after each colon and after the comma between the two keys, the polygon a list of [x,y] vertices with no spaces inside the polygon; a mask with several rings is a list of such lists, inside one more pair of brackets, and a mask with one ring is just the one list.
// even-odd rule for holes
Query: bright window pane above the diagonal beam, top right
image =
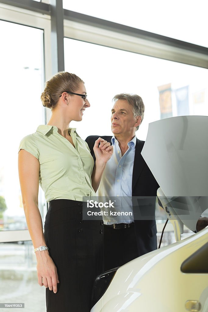
{"label": "bright window pane above the diagonal beam, top right", "polygon": [[65,9],[208,47],[208,2],[63,0]]}

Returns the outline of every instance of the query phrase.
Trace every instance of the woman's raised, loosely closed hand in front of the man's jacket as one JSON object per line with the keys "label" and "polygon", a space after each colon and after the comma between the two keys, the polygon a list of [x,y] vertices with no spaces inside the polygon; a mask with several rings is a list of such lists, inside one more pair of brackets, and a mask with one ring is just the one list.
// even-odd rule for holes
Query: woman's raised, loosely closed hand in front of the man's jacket
{"label": "woman's raised, loosely closed hand in front of the man's jacket", "polygon": [[113,146],[102,138],[98,138],[95,141],[93,150],[96,157],[96,162],[99,161],[103,163],[107,163],[114,152]]}

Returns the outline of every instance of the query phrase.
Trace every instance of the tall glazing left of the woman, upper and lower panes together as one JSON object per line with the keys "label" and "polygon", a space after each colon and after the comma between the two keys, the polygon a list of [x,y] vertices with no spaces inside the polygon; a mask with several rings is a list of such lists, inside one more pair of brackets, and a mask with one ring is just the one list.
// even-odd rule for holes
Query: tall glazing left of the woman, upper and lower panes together
{"label": "tall glazing left of the woman, upper and lower panes together", "polygon": [[[0,235],[7,241],[0,243],[0,302],[24,303],[25,311],[45,312],[45,290],[37,283],[36,256],[31,241],[27,241],[27,231],[20,234],[22,241],[15,242],[19,239],[17,230],[27,229],[17,168],[19,143],[45,123],[40,101],[44,84],[43,30],[0,21],[0,33]],[[44,207],[40,189],[42,217]],[[8,242],[9,235],[13,242]]]}

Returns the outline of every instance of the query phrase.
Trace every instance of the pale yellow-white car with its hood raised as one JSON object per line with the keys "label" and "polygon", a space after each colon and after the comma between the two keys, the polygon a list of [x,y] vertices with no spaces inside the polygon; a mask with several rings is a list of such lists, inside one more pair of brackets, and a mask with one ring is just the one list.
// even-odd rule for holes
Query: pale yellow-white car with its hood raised
{"label": "pale yellow-white car with its hood raised", "polygon": [[[207,136],[208,116],[179,116],[149,125],[142,156],[161,186],[157,194],[177,242],[99,275],[91,312],[208,312],[208,227],[180,240],[183,224],[195,231],[208,207]],[[170,201],[177,196],[191,202],[189,218]]]}

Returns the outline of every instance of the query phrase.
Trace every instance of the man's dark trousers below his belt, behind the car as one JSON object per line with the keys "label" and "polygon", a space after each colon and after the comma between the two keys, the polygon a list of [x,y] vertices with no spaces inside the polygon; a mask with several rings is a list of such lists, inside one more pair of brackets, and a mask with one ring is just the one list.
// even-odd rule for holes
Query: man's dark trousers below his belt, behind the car
{"label": "man's dark trousers below his belt, behind the car", "polygon": [[134,224],[125,229],[104,225],[104,269],[108,271],[137,258],[138,249]]}

